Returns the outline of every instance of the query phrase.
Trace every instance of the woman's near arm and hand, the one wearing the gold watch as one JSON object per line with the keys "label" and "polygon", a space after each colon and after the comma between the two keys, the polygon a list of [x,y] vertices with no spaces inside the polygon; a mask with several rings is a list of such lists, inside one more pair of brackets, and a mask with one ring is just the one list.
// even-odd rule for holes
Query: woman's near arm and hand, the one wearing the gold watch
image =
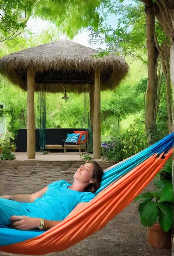
{"label": "woman's near arm and hand, the one wearing the gold watch", "polygon": [[[66,218],[79,211],[81,208],[83,208],[84,205],[86,205],[86,202],[78,203],[78,205],[76,205],[76,207],[72,210],[72,212],[69,213]],[[39,218],[32,218],[27,216],[12,216],[10,217],[10,221],[12,222],[11,226],[19,230],[31,230],[34,228],[39,228],[40,225]],[[48,230],[60,222],[61,221],[44,220],[43,230]]]}

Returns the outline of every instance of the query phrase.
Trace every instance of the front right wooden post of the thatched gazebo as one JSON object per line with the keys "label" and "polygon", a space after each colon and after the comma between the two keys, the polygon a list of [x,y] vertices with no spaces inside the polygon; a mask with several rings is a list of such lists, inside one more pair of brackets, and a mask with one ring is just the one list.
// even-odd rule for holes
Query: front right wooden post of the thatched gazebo
{"label": "front right wooden post of the thatched gazebo", "polygon": [[100,159],[101,153],[101,107],[100,107],[100,71],[95,71],[94,83],[94,127],[93,127],[94,159]]}

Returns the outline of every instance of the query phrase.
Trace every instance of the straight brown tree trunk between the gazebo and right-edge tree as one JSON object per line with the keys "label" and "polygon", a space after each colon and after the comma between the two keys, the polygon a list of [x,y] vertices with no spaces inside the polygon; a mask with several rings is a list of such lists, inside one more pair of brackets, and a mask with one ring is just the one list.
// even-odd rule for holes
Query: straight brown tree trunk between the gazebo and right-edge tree
{"label": "straight brown tree trunk between the gazebo and right-edge tree", "polygon": [[153,141],[153,133],[156,131],[156,83],[157,83],[157,58],[158,51],[155,46],[155,14],[152,1],[145,1],[146,8],[146,39],[148,50],[148,86],[145,95],[145,133],[148,144]]}

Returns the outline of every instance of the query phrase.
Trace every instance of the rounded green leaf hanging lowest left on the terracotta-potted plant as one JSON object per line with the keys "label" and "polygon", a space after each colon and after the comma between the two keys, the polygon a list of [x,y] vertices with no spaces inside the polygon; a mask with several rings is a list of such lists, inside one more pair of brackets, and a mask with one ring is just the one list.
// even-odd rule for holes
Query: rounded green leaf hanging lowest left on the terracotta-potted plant
{"label": "rounded green leaf hanging lowest left on the terracotta-potted plant", "polygon": [[146,201],[144,203],[140,203],[138,211],[140,214],[141,223],[145,227],[152,227],[153,224],[155,224],[155,222],[157,221],[158,208],[156,202]]}

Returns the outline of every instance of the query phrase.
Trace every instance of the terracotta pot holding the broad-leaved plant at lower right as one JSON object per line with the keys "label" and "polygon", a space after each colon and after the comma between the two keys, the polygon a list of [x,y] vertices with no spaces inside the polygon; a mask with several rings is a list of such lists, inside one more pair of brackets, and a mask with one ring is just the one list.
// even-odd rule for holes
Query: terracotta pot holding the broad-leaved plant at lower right
{"label": "terracotta pot holding the broad-leaved plant at lower right", "polygon": [[148,227],[148,244],[157,249],[171,249],[172,228],[165,232],[160,224]]}

